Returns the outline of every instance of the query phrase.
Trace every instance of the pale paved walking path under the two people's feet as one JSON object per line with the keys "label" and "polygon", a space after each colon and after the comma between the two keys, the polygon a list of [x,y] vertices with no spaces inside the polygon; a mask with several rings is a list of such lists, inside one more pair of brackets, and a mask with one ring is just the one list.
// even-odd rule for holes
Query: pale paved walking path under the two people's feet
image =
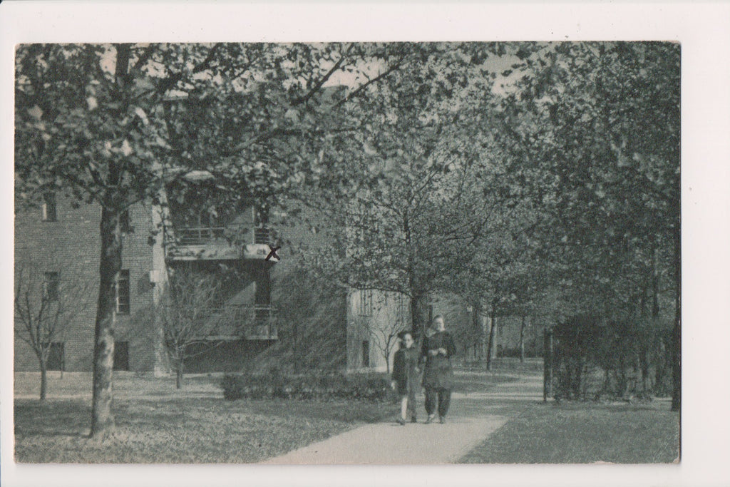
{"label": "pale paved walking path under the two people's feet", "polygon": [[[519,413],[530,402],[542,401],[542,377],[502,383],[489,392],[454,393],[447,423],[374,423],[351,429],[266,464],[447,464]],[[423,404],[423,401],[419,401]]]}

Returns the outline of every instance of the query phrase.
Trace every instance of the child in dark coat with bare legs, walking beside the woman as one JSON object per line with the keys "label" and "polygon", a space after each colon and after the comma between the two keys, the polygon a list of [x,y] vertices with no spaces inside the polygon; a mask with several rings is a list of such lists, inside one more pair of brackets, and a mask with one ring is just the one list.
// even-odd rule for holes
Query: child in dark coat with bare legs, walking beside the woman
{"label": "child in dark coat with bare legs, walking beside the woman", "polygon": [[401,417],[398,422],[405,425],[408,415],[412,423],[416,421],[415,392],[418,384],[418,350],[413,346],[412,334],[408,331],[399,334],[400,348],[393,356],[393,375],[391,387],[401,397]]}

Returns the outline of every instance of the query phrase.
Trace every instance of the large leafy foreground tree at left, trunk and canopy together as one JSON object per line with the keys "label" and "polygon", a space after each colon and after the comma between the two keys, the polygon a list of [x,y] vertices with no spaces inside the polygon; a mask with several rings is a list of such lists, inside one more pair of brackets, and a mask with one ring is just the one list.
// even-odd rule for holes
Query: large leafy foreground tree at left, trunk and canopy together
{"label": "large leafy foreground tree at left, trunk and canopy together", "polygon": [[[91,433],[113,426],[114,283],[120,215],[159,202],[171,178],[206,170],[227,198],[266,196],[310,170],[326,120],[310,100],[388,45],[22,45],[16,55],[19,206],[61,191],[101,206]],[[374,79],[373,79],[374,80]],[[373,80],[362,80],[363,85]],[[355,90],[357,91],[357,90]],[[354,93],[354,92],[353,92]],[[350,93],[350,96],[353,95]]]}

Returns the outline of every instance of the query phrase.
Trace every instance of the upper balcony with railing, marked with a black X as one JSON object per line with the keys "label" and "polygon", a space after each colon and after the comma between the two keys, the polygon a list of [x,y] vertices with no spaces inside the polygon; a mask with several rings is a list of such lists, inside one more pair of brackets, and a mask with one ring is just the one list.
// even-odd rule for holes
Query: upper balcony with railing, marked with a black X
{"label": "upper balcony with railing, marked with a black X", "polygon": [[264,260],[269,255],[271,231],[252,229],[245,245],[233,245],[226,239],[226,227],[186,226],[175,229],[175,239],[167,248],[173,261]]}

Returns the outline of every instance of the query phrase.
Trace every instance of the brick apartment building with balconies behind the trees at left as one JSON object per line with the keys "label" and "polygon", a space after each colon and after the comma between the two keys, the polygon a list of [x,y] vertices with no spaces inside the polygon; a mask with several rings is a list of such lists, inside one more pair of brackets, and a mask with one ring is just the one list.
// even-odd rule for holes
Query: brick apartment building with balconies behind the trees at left
{"label": "brick apartment building with balconies behind the trees at left", "polygon": [[[193,179],[205,184],[199,175]],[[222,355],[231,351],[226,344],[256,349],[277,338],[269,285],[276,259],[265,260],[270,235],[256,221],[253,208],[240,207],[223,218],[223,212],[209,212],[204,205],[196,209],[194,203],[184,213],[175,210],[172,204],[172,229],[156,232],[153,230],[163,221],[159,207],[135,204],[124,215],[122,271],[116,288],[115,369],[164,372],[168,368],[151,307],[160,299],[169,272],[183,266],[219,274],[220,269],[228,269],[219,305],[235,310],[237,326],[235,331],[228,328],[215,337],[223,345],[219,347]],[[48,363],[51,370],[92,368],[100,218],[98,205],[78,204],[53,193],[46,194],[37,208],[15,214],[16,282],[31,271],[40,275],[42,294],[64,300],[72,311],[62,333],[54,337]],[[223,231],[232,224],[248,229],[242,245],[224,238]],[[16,333],[15,370],[37,369],[33,350]]]}

